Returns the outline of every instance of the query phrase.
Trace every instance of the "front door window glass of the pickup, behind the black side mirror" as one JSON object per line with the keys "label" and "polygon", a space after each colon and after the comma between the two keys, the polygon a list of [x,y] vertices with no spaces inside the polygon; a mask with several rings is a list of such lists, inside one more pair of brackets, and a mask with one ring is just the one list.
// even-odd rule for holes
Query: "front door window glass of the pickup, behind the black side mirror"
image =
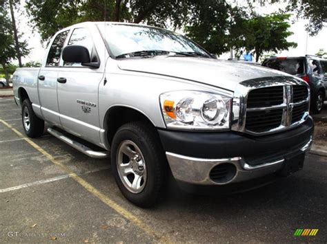
{"label": "front door window glass of the pickup, behind the black side mirror", "polygon": [[[68,45],[80,45],[86,47],[90,54],[91,62],[97,62],[97,54],[95,54],[95,49],[92,41],[90,32],[85,28],[77,28],[72,32]],[[63,62],[63,66],[81,66],[81,63],[67,63]]]}

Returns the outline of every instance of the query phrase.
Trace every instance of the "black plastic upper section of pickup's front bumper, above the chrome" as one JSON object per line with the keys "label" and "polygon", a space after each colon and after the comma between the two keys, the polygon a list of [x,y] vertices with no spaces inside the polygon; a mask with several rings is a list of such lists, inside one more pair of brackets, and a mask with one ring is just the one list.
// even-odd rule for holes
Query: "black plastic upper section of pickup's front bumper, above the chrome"
{"label": "black plastic upper section of pickup's front bumper, above the chrome", "polygon": [[260,137],[234,131],[195,132],[158,129],[158,133],[166,152],[207,159],[248,157],[250,161],[255,162],[257,157],[269,157],[305,144],[313,135],[313,130],[313,120],[309,117],[304,124],[295,129]]}

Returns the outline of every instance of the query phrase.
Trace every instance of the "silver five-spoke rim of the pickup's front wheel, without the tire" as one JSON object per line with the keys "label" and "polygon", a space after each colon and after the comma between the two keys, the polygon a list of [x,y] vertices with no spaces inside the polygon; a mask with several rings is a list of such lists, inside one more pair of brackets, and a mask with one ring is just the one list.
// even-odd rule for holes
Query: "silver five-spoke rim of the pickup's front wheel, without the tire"
{"label": "silver five-spoke rim of the pickup's front wheel, without the tire", "polygon": [[139,193],[146,186],[146,161],[134,142],[125,140],[117,150],[117,171],[123,186]]}

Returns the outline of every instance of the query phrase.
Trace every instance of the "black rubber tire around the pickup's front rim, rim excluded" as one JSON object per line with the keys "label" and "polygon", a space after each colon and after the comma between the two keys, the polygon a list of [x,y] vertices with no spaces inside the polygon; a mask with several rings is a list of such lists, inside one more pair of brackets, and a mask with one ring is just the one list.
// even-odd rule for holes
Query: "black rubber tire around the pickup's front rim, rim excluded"
{"label": "black rubber tire around the pickup's front rim, rim excluded", "polygon": [[[159,197],[159,192],[164,184],[165,169],[160,148],[154,141],[155,138],[150,134],[144,135],[144,132],[143,130],[138,131],[137,128],[128,124],[122,126],[112,140],[111,165],[117,185],[124,197],[135,205],[146,208],[152,206]],[[117,150],[124,140],[130,140],[137,144],[146,161],[146,186],[137,194],[130,192],[123,185],[117,170]]]}

